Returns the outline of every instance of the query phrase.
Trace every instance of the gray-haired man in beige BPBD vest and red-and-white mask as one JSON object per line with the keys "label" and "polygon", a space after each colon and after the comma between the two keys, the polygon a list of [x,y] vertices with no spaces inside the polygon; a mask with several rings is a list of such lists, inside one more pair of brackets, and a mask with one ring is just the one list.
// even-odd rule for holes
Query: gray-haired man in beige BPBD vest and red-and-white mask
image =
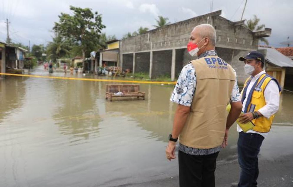
{"label": "gray-haired man in beige BPBD vest and red-and-white mask", "polygon": [[183,67],[170,98],[178,106],[166,158],[176,158],[175,144],[179,137],[181,187],[215,186],[216,158],[221,147],[227,145],[229,128],[242,109],[236,72],[218,57],[215,45],[213,26],[194,27],[187,50],[193,57],[199,57]]}

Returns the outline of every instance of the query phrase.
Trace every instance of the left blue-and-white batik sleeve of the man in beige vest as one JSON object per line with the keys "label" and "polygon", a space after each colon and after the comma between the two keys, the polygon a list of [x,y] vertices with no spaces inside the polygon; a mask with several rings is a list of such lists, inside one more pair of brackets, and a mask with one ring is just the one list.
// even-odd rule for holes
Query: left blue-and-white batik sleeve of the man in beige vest
{"label": "left blue-and-white batik sleeve of the man in beige vest", "polygon": [[192,63],[187,64],[181,70],[171,95],[170,101],[184,106],[191,106],[196,88],[196,75]]}

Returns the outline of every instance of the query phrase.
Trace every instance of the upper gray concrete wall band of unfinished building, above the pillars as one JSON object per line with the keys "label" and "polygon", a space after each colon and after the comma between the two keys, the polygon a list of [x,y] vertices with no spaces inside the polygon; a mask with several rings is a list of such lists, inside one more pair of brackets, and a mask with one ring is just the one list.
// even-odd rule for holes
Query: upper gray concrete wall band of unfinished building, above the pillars
{"label": "upper gray concrete wall band of unfinished building, above the pillars", "polygon": [[[234,26],[234,22],[221,16],[206,14],[192,19],[180,21],[168,26],[151,30],[146,34],[123,40],[122,52],[136,52],[147,50],[163,50],[182,48],[188,43],[190,32],[199,24],[212,24],[217,32],[217,47],[254,50],[257,49],[258,39],[253,32],[243,25]],[[228,39],[229,38],[229,39]]]}

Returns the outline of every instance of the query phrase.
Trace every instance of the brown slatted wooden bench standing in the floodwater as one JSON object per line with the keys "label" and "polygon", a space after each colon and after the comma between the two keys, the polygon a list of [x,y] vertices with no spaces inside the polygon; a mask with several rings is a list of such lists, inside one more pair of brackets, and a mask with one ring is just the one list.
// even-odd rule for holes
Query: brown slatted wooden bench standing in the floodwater
{"label": "brown slatted wooden bench standing in the floodwater", "polygon": [[[115,95],[123,92],[123,95]],[[106,85],[106,99],[112,101],[113,97],[142,97],[145,100],[145,92],[139,91],[139,85]]]}

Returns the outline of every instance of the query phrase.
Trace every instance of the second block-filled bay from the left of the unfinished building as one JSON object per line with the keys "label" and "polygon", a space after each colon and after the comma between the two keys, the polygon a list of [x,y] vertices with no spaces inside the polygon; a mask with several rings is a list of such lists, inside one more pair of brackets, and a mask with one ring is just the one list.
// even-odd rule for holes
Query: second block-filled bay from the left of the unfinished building
{"label": "second block-filled bay from the left of the unfinished building", "polygon": [[135,72],[150,72],[150,52],[135,53]]}

